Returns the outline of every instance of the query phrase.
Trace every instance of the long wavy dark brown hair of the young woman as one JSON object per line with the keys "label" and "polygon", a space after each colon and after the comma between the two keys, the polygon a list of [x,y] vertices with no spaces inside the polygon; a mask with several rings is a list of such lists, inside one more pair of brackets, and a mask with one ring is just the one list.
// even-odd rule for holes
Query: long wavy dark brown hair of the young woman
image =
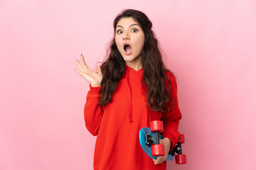
{"label": "long wavy dark brown hair of the young woman", "polygon": [[[139,23],[145,35],[141,55],[143,69],[142,92],[146,95],[146,106],[153,111],[164,112],[166,109],[169,110],[167,107],[169,100],[174,103],[170,94],[171,81],[166,77],[166,72],[170,71],[164,66],[158,47],[158,40],[156,40],[154,31],[151,30],[152,23],[149,18],[141,11],[133,9],[122,11],[114,19],[114,34],[120,19],[128,17],[132,17],[134,21]],[[100,106],[106,106],[107,103],[112,101],[112,95],[117,89],[119,80],[124,77],[125,73],[125,61],[117,49],[114,38],[110,42],[108,51],[109,57],[101,65],[103,79],[100,90]]]}

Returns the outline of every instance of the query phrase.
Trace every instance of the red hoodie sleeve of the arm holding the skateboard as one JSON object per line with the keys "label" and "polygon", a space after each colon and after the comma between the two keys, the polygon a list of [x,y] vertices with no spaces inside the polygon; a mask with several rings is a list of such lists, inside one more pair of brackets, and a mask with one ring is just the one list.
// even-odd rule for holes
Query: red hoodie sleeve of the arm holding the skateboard
{"label": "red hoodie sleeve of the arm holding the skateboard", "polygon": [[171,140],[171,149],[174,148],[178,141],[179,132],[178,132],[178,123],[181,120],[181,111],[178,108],[178,97],[177,97],[177,83],[176,78],[173,74],[166,74],[171,81],[171,98],[174,101],[174,104],[169,101],[168,106],[171,111],[165,111],[163,113],[162,120],[164,122],[164,132],[163,137],[168,137]]}

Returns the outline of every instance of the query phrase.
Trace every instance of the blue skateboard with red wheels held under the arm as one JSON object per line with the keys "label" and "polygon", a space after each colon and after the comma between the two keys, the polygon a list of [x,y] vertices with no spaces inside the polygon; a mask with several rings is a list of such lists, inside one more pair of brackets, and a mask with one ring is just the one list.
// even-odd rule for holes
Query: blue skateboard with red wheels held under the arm
{"label": "blue skateboard with red wheels held under the arm", "polygon": [[[154,120],[150,122],[150,128],[142,128],[139,131],[139,142],[142,145],[144,152],[151,157],[156,159],[156,157],[164,156],[164,145],[159,144],[159,140],[163,137],[160,132],[164,131],[164,124],[161,120]],[[185,137],[181,134],[178,137],[177,145],[174,149],[169,152],[166,161],[176,160],[176,164],[186,164],[186,154],[182,154],[181,144],[185,143]]]}

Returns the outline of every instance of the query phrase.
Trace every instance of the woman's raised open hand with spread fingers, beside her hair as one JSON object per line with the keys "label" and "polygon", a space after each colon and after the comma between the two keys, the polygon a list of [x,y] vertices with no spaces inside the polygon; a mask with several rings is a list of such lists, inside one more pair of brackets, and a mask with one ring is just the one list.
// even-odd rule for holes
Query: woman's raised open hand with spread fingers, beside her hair
{"label": "woman's raised open hand with spread fingers, beside her hair", "polygon": [[75,72],[80,74],[82,77],[90,83],[91,86],[100,86],[102,81],[102,72],[100,66],[97,66],[97,72],[94,72],[92,69],[87,67],[85,63],[85,58],[81,55],[81,63],[79,60],[76,60],[79,69],[75,69]]}

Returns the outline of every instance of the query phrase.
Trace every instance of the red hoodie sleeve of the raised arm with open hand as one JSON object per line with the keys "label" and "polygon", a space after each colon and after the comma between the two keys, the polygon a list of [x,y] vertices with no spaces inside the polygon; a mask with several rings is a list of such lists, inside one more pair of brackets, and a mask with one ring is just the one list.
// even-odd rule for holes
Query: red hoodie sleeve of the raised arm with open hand
{"label": "red hoodie sleeve of the raised arm with open hand", "polygon": [[97,135],[103,115],[102,108],[98,104],[98,101],[100,100],[100,89],[101,86],[90,86],[90,91],[87,93],[84,108],[85,126],[87,130],[94,136]]}

